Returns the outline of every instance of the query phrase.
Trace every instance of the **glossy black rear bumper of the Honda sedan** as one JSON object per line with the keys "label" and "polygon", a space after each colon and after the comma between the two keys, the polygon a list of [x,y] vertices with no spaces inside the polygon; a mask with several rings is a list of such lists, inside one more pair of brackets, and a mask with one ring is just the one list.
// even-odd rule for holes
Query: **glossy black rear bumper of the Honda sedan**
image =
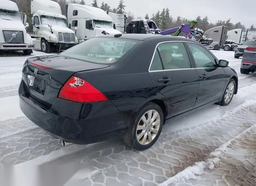
{"label": "glossy black rear bumper of the Honda sedan", "polygon": [[130,113],[120,112],[110,101],[74,103],[56,99],[49,110],[19,87],[20,109],[51,136],[75,144],[89,144],[122,137],[129,125]]}

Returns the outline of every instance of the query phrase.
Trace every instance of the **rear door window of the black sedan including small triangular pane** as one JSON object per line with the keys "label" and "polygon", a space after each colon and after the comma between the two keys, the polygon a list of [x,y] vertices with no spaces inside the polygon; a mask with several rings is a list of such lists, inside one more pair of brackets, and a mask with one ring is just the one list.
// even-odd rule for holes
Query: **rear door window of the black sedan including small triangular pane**
{"label": "rear door window of the black sedan including small triangular pane", "polygon": [[[157,50],[164,70],[191,68],[188,53],[182,42],[162,43],[158,45]],[[156,52],[155,55],[158,55],[158,52]],[[158,61],[159,60],[154,56],[151,64],[152,70],[156,68],[161,69]]]}

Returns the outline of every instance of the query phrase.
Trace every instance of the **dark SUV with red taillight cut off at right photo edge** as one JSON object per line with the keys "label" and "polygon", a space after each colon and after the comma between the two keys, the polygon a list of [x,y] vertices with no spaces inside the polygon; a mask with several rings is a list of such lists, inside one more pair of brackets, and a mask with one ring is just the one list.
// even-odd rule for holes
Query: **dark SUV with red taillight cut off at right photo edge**
{"label": "dark SUV with red taillight cut off at right photo edge", "polygon": [[248,74],[256,71],[256,42],[254,46],[248,46],[244,50],[240,72]]}

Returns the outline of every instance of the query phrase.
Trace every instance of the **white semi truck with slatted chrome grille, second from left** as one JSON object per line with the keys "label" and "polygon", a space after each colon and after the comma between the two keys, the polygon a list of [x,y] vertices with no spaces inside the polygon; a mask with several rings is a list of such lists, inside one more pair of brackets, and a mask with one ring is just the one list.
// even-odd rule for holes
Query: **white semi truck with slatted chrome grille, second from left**
{"label": "white semi truck with slatted chrome grille, second from left", "polygon": [[60,5],[51,0],[31,0],[35,49],[45,53],[68,49],[78,44],[75,32],[68,28]]}

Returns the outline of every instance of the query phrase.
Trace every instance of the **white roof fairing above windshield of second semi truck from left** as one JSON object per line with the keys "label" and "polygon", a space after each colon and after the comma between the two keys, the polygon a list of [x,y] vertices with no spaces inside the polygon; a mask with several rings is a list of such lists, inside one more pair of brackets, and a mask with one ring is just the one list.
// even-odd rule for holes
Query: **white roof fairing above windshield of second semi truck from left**
{"label": "white roof fairing above windshield of second semi truck from left", "polygon": [[57,2],[51,0],[31,0],[31,14],[38,11],[62,15],[60,5]]}

